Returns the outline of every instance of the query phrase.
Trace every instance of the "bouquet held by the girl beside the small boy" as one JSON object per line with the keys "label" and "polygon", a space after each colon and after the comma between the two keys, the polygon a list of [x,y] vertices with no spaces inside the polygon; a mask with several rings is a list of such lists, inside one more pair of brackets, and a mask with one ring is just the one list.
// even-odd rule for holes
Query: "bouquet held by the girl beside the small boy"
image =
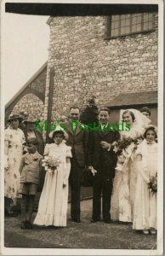
{"label": "bouquet held by the girl beside the small boy", "polygon": [[50,156],[45,156],[43,159],[43,165],[45,168],[45,171],[53,172],[57,169],[57,167],[60,165],[59,159],[54,159]]}

